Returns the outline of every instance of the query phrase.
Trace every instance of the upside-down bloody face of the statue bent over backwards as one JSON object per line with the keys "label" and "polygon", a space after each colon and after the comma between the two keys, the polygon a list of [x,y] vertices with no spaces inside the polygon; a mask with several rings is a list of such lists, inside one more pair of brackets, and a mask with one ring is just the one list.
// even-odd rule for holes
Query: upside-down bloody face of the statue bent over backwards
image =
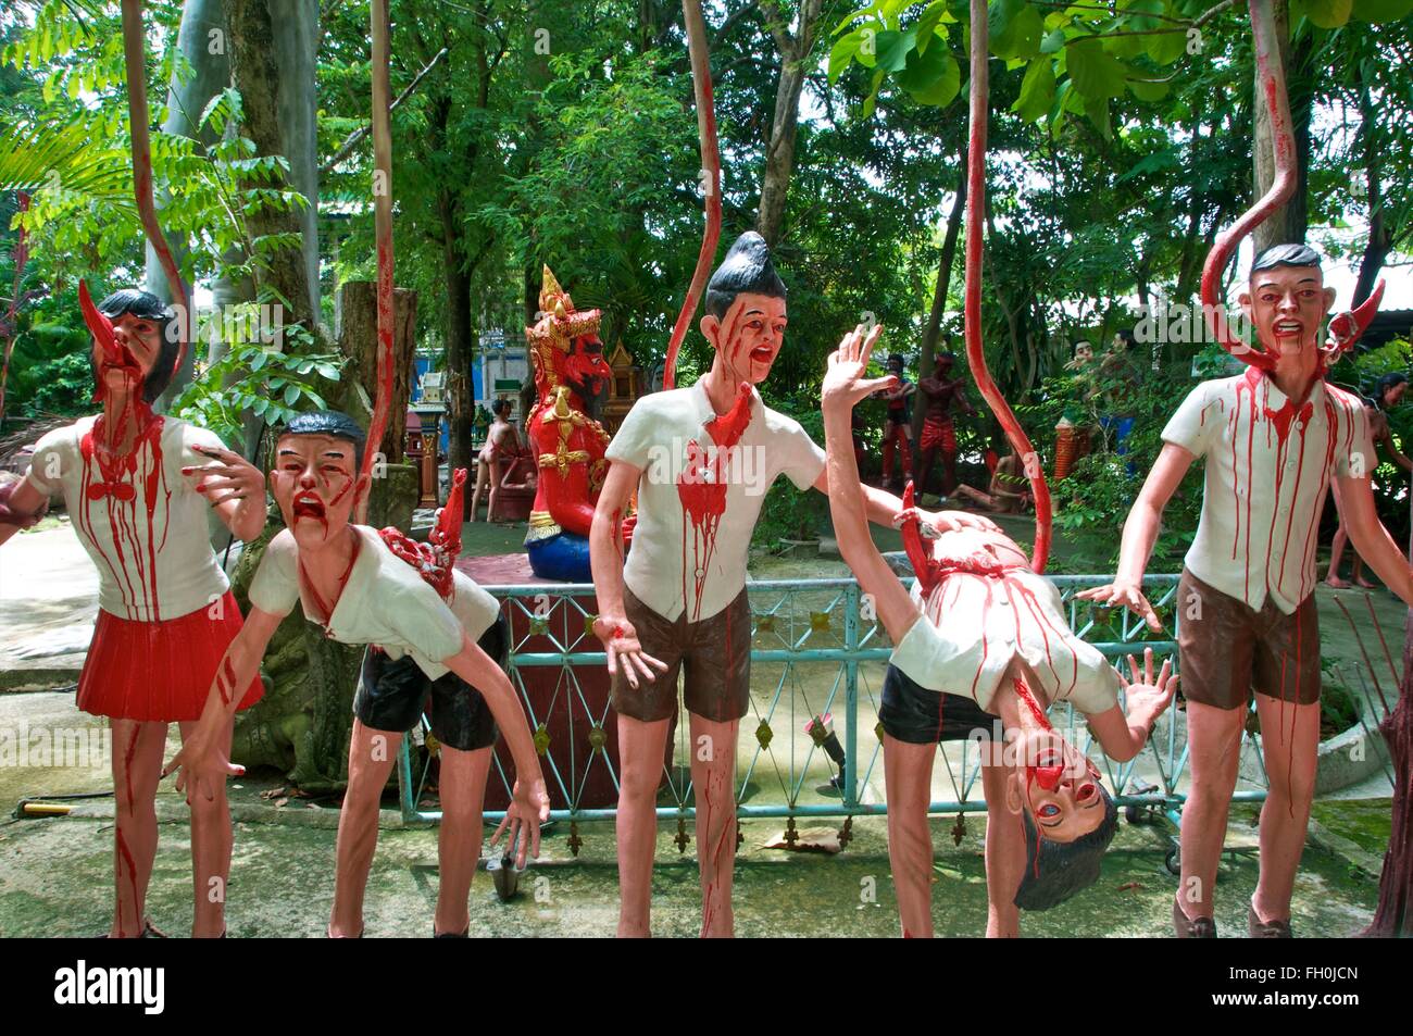
{"label": "upside-down bloody face of the statue bent over backwards", "polygon": [[1043,838],[1072,842],[1104,821],[1099,773],[1054,731],[1027,731],[1017,742],[1026,813]]}

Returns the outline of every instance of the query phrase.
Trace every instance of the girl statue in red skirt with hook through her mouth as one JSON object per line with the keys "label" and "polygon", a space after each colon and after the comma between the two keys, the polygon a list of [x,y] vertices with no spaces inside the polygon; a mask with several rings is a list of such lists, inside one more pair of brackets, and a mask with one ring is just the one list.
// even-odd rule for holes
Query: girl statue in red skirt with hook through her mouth
{"label": "girl statue in red skirt with hook through her mouth", "polygon": [[[240,540],[264,527],[264,479],[209,431],[154,414],[179,362],[172,314],[146,291],[123,290],[97,307],[79,286],[93,332],[93,401],[103,410],[40,440],[30,472],[0,486],[0,543],[64,496],[73,531],[99,575],[99,613],[79,676],[78,707],[113,728],[113,871],[109,934],[160,934],[146,913],[157,855],[155,794],[167,728],[185,739],[242,619],[211,547],[206,514]],[[239,708],[261,694],[252,678]],[[233,715],[218,736],[229,752]],[[230,813],[225,789],[191,800],[195,879],[192,934],[225,934]]]}

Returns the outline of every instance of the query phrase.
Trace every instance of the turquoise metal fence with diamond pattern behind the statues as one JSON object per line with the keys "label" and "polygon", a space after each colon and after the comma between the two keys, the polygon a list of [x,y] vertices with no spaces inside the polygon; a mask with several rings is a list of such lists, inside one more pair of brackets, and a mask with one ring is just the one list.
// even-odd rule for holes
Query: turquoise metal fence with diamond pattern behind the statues
{"label": "turquoise metal fence with diamond pattern behind the statues", "polygon": [[[1053,582],[1060,588],[1070,625],[1081,637],[1106,656],[1119,660],[1133,652],[1152,647],[1156,656],[1176,654],[1176,639],[1153,636],[1142,619],[1122,609],[1104,609],[1074,594],[1085,587],[1104,585],[1106,575],[1060,575]],[[512,625],[521,630],[514,636],[509,671],[537,731],[545,780],[557,799],[568,808],[552,811],[552,818],[569,821],[609,820],[612,806],[581,806],[584,787],[595,767],[606,767],[606,775],[617,787],[613,760],[605,750],[606,724],[613,722],[606,701],[591,702],[579,684],[578,674],[586,667],[605,666],[602,646],[591,630],[593,612],[592,585],[519,585],[487,587],[504,602]],[[738,814],[742,818],[796,818],[883,814],[887,811],[875,776],[882,783],[882,739],[876,724],[879,691],[892,644],[887,635],[870,615],[858,582],[853,579],[787,579],[749,584],[752,636],[752,712],[740,722],[738,745]],[[1181,602],[1177,596],[1177,575],[1150,575],[1145,591],[1154,602],[1164,630],[1176,630],[1181,623]],[[548,650],[528,650],[530,640],[547,639]],[[541,644],[543,646],[543,644]],[[1174,659],[1176,664],[1176,659]],[[571,732],[586,729],[585,750],[575,738],[555,743],[541,726],[544,710],[537,708],[526,691],[526,674],[550,667],[558,670],[555,702],[568,708]],[[567,695],[558,702],[558,695]],[[842,718],[841,718],[842,712]],[[804,732],[804,724],[814,717],[834,715],[834,728],[844,746],[842,775],[835,770],[821,746]],[[1180,816],[1186,797],[1187,748],[1181,721],[1170,710],[1159,721],[1149,745],[1128,763],[1115,763],[1092,743],[1087,726],[1078,721],[1067,704],[1051,711],[1057,729],[1081,750],[1099,762],[1101,770],[1121,807],[1154,810],[1173,820]],[[425,726],[425,724],[424,724]],[[681,743],[687,724],[678,724],[678,755],[687,758],[690,746]],[[1263,766],[1259,742],[1243,738],[1243,752],[1256,758],[1259,780],[1243,780],[1234,796],[1236,801],[1259,801],[1265,797]],[[942,749],[942,762],[950,776],[952,796],[931,803],[933,813],[962,814],[983,811],[979,796],[981,758],[974,741],[951,742]],[[427,790],[430,758],[422,759],[403,739],[398,777],[401,808],[406,820],[439,820],[441,813],[422,808]],[[666,766],[666,763],[664,763]],[[492,780],[509,787],[509,776],[499,762]],[[603,773],[598,773],[602,783]],[[841,779],[842,777],[842,779]],[[831,783],[832,782],[832,783]],[[675,818],[680,827],[694,816],[691,782],[685,767],[668,767],[667,787],[671,803],[658,807],[658,817]],[[487,811],[487,818],[502,814]],[[685,838],[680,840],[685,845]]]}

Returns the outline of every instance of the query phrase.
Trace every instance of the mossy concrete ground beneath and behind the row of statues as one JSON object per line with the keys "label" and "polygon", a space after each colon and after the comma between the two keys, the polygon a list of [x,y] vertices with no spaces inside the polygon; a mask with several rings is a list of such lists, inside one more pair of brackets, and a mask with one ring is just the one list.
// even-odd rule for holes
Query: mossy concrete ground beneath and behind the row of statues
{"label": "mossy concrete ground beneath and behind the row of statues", "polygon": [[[468,553],[514,550],[520,536],[514,529],[469,526]],[[880,540],[887,548],[897,546],[887,534]],[[20,544],[24,548],[17,548]],[[811,558],[804,565],[763,558],[753,565],[753,575],[797,578],[804,567],[817,577],[846,574],[831,558]],[[8,674],[0,676],[0,691],[21,685],[62,687],[76,680],[92,616],[92,578],[88,558],[62,523],[25,533],[0,554],[0,629],[6,630],[0,673]],[[1344,599],[1366,646],[1381,657],[1366,613],[1362,625],[1359,620],[1365,609],[1362,595],[1347,594]],[[1386,592],[1376,592],[1372,601],[1396,653],[1405,609]],[[1327,656],[1358,657],[1354,635],[1328,591],[1320,591],[1320,605]],[[863,721],[861,717],[861,725]],[[49,758],[35,750],[32,739],[30,758],[16,755],[23,731],[48,732]],[[749,749],[749,739],[743,741]],[[64,758],[55,758],[55,745]],[[170,749],[175,750],[175,738]],[[0,693],[0,861],[4,861],[0,936],[82,936],[105,930],[112,900],[112,799],[78,800],[71,816],[42,820],[11,820],[8,810],[28,796],[106,793],[112,783],[107,767],[103,728],[73,708],[72,691]],[[770,790],[773,777],[762,772],[759,779]],[[280,775],[256,773],[237,782],[232,791],[236,816],[232,936],[315,937],[324,931],[332,897],[338,803],[271,794],[280,784]],[[879,763],[865,801],[876,800],[880,793]],[[938,799],[955,796],[941,763],[935,769],[934,793]],[[1369,800],[1324,801],[1316,807],[1294,905],[1300,934],[1355,934],[1372,914],[1379,857],[1389,835],[1388,783],[1379,776],[1347,794]],[[393,811],[391,797],[384,806],[384,831],[369,889],[367,933],[425,936],[437,889],[437,834],[404,827]],[[160,794],[161,847],[150,913],[158,927],[172,934],[184,933],[191,917],[184,816],[185,807],[167,782]],[[1228,834],[1232,851],[1222,864],[1218,892],[1222,934],[1245,933],[1245,902],[1256,881],[1253,817],[1253,807],[1234,810]],[[983,817],[968,817],[961,844],[954,845],[954,818],[934,820],[938,934],[979,934],[985,926],[983,825]],[[743,824],[745,845],[736,872],[738,934],[897,933],[882,818],[855,820],[853,841],[832,857],[764,848],[781,827],[781,821]],[[821,821],[820,827],[834,831],[838,823]],[[612,934],[617,909],[612,825],[584,824],[579,834],[584,845],[575,858],[568,849],[565,824],[547,832],[543,859],[526,876],[524,895],[514,902],[497,902],[486,875],[480,875],[472,890],[473,934]],[[1161,821],[1121,825],[1098,885],[1057,910],[1024,917],[1024,933],[1166,934],[1176,890],[1176,879],[1164,868],[1170,834],[1171,828]],[[654,933],[691,936],[699,907],[695,864],[691,847],[688,855],[681,855],[674,835],[675,824],[661,824]]]}

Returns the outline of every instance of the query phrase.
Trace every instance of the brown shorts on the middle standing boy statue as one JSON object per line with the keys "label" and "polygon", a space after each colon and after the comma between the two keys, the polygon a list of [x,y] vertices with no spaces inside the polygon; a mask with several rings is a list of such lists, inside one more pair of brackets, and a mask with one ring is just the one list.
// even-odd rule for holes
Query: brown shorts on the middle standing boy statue
{"label": "brown shorts on the middle standing boy statue", "polygon": [[677,715],[677,674],[682,673],[687,711],[714,722],[740,719],[750,711],[750,599],[746,589],[709,619],[688,622],[684,611],[668,622],[623,588],[623,612],[637,630],[643,650],[667,663],[649,683],[639,673],[637,690],[613,674],[613,711],[643,722]]}

